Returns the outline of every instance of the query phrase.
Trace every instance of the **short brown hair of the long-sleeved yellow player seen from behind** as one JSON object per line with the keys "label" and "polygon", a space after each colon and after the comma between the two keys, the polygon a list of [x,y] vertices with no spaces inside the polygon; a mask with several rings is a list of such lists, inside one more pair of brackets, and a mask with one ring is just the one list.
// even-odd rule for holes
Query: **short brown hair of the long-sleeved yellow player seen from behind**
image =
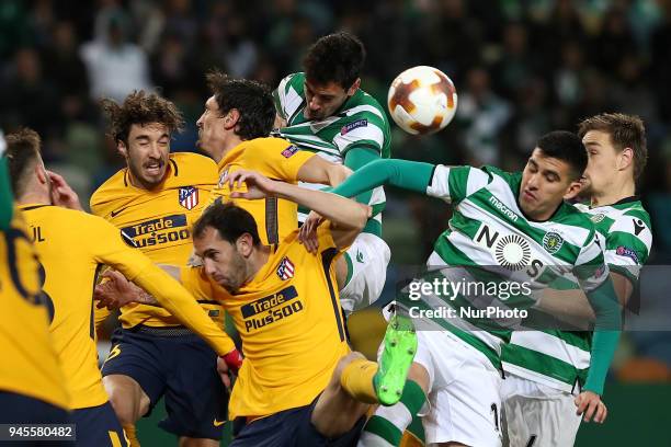
{"label": "short brown hair of the long-sleeved yellow player seen from behind", "polygon": [[39,160],[42,139],[39,135],[27,127],[21,128],[5,137],[7,161],[14,197],[25,192],[30,169]]}

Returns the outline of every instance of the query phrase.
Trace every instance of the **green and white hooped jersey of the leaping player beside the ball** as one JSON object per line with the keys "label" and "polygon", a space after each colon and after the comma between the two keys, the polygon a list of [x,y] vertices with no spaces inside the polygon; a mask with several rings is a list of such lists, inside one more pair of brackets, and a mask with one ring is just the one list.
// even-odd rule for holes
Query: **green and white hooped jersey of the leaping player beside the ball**
{"label": "green and white hooped jersey of the leaping player beside the ball", "polygon": [[[306,107],[305,73],[287,76],[273,92],[275,110],[286,121],[286,127],[275,134],[292,141],[299,149],[317,152],[320,157],[342,164],[348,151],[354,147],[371,148],[382,158],[389,158],[390,129],[387,115],[379,103],[368,93],[359,89],[336,114],[322,121],[308,121],[303,112]],[[311,190],[323,185],[299,183]],[[374,219],[382,225],[385,207],[385,192],[373,191],[368,205],[373,207]],[[298,219],[306,214],[299,209]],[[368,227],[367,227],[368,228]]]}

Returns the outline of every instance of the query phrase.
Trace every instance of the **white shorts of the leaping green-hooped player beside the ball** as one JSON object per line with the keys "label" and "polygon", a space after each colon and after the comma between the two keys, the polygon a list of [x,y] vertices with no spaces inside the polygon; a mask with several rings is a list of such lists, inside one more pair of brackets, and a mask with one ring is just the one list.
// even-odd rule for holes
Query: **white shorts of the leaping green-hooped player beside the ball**
{"label": "white shorts of the leaping green-hooped player beside the ball", "polygon": [[356,237],[336,266],[340,302],[345,313],[363,309],[379,298],[390,256],[389,247],[382,238],[371,233]]}

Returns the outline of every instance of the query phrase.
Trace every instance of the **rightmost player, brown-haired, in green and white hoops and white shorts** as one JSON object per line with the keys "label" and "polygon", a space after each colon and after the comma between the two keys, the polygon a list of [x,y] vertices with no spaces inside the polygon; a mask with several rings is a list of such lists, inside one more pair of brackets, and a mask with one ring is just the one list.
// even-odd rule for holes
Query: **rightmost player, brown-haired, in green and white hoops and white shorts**
{"label": "rightmost player, brown-haired, in green and white hoops and white shorts", "polygon": [[[635,196],[636,180],[647,159],[644,124],[635,116],[601,114],[580,123],[578,134],[589,157],[581,195],[590,198],[590,205],[577,207],[605,241],[604,259],[624,306],[652,244],[650,216]],[[558,312],[567,307],[567,297],[558,294],[556,298]],[[583,300],[573,308],[589,306]],[[573,445],[581,421],[575,399],[585,387],[590,348],[589,332],[547,329],[512,334],[501,353],[507,373],[501,398],[510,446],[532,442],[538,446]],[[603,422],[606,414],[601,403],[595,421]]]}

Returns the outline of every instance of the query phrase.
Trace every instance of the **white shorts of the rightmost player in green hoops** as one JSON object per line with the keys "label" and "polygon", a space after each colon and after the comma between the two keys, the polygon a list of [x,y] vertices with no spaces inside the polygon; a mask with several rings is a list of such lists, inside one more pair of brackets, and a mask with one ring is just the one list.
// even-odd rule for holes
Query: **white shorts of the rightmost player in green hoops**
{"label": "white shorts of the rightmost player in green hoops", "polygon": [[508,446],[572,446],[580,427],[575,396],[514,375],[501,388]]}

